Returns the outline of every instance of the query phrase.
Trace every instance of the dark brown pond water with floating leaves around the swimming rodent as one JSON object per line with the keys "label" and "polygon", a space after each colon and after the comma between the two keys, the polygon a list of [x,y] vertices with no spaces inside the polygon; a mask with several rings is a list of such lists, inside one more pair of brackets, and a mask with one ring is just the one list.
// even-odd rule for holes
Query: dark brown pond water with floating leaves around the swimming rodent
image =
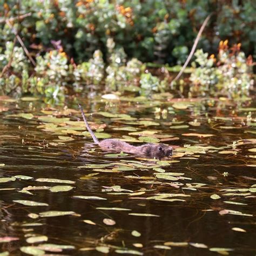
{"label": "dark brown pond water with floating leaves around the swimming rodent", "polygon": [[[0,255],[255,255],[255,105],[34,100],[0,101]],[[100,150],[78,102],[98,138],[173,157]]]}

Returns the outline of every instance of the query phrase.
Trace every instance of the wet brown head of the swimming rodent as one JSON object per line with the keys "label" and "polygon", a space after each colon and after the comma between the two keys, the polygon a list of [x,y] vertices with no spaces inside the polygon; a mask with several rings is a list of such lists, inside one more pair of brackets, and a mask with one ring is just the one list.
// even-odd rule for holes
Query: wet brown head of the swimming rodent
{"label": "wet brown head of the swimming rodent", "polygon": [[172,147],[165,144],[146,144],[146,155],[152,158],[164,158],[172,156]]}

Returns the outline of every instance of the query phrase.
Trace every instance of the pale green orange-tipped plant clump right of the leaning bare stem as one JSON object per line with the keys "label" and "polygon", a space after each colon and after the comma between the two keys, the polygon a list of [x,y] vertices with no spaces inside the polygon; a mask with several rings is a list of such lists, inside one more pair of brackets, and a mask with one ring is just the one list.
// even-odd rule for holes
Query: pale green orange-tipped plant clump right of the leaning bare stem
{"label": "pale green orange-tipped plant clump right of the leaning bare stem", "polygon": [[[190,80],[192,94],[196,95],[225,95],[230,98],[241,98],[249,95],[252,80],[252,65],[250,57],[240,51],[240,44],[228,48],[227,41],[220,42],[217,59],[208,58],[208,53],[197,50],[196,63]],[[194,64],[195,65],[195,64]]]}

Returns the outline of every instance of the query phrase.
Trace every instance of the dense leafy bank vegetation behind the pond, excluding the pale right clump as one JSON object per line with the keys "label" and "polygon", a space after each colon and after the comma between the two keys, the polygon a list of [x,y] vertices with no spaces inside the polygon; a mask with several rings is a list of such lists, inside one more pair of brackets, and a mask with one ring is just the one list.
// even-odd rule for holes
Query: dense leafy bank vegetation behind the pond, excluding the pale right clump
{"label": "dense leafy bank vegetation behind the pond, excluding the pale right clump", "polygon": [[[242,63],[255,55],[256,6],[251,0],[0,3],[2,93],[61,97],[70,87],[79,91],[102,82],[109,90],[121,90],[122,83],[129,82],[141,85],[137,91],[145,95],[163,91],[168,81],[144,74],[142,63],[183,64],[210,13],[198,48],[216,54],[220,41],[228,39],[230,45],[241,43]],[[26,17],[15,18],[22,15]]]}

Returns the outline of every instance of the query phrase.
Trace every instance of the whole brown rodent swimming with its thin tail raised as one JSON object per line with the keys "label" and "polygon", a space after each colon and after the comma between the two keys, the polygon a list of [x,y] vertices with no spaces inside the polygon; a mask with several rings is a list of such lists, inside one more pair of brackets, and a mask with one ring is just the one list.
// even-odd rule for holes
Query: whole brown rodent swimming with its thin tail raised
{"label": "whole brown rodent swimming with its thin tail raised", "polygon": [[153,143],[147,143],[142,146],[133,146],[126,142],[122,142],[122,140],[119,139],[104,139],[101,142],[97,139],[93,131],[91,130],[82,107],[80,104],[78,104],[80,107],[80,110],[82,112],[82,116],[84,119],[84,123],[86,125],[87,130],[90,132],[91,137],[93,141],[98,144],[102,149],[109,149],[114,150],[117,152],[124,152],[124,153],[131,153],[131,154],[139,154],[145,157],[150,158],[163,158],[163,157],[169,157],[172,156],[172,147],[164,145],[164,144],[153,144]]}

